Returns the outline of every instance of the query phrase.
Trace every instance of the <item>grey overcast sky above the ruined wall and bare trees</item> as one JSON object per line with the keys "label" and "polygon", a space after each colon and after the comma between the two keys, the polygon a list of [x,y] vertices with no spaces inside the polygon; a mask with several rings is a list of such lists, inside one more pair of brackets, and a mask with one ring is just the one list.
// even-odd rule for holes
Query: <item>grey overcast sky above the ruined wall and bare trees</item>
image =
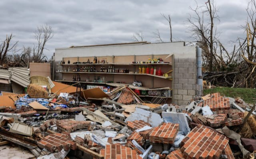
{"label": "grey overcast sky above the ruined wall and bare trees", "polygon": [[[201,6],[206,0],[197,2]],[[246,22],[248,0],[214,2],[219,8],[216,26],[220,40],[228,45],[230,40],[243,37],[240,26]],[[132,42],[138,31],[153,43],[152,32],[158,29],[168,42],[170,29],[162,13],[172,17],[173,41],[189,41],[186,19],[189,7],[195,4],[193,0],[0,0],[0,40],[12,33],[18,47],[33,46],[36,27],[48,24],[54,30],[54,37],[46,44],[48,58],[55,48]]]}

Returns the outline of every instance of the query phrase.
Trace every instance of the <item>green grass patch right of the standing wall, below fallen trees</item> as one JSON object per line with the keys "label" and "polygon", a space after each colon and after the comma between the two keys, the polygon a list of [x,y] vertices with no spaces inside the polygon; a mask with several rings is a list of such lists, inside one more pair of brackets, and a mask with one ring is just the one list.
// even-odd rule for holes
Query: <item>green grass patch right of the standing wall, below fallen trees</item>
{"label": "green grass patch right of the standing wall, below fallen trees", "polygon": [[222,96],[241,98],[245,102],[255,104],[256,102],[256,89],[250,88],[227,88],[216,87],[213,89],[204,89],[204,95],[219,92]]}

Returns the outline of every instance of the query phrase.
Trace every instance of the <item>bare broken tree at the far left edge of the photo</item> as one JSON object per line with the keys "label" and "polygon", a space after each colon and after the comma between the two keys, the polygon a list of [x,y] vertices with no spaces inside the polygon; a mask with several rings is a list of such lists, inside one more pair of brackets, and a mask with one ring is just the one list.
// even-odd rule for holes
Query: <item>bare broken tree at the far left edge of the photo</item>
{"label": "bare broken tree at the far left edge of the photo", "polygon": [[11,43],[13,37],[12,34],[10,36],[6,35],[6,39],[0,44],[0,65],[3,65],[7,54],[17,46],[18,41]]}

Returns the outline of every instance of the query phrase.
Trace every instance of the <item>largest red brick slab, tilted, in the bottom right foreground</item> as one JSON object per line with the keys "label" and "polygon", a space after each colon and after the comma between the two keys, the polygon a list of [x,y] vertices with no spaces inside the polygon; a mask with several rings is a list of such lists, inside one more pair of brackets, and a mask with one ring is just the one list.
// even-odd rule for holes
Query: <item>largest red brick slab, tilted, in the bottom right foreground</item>
{"label": "largest red brick slab, tilted, in the bottom right foreground", "polygon": [[219,158],[228,145],[228,138],[205,126],[195,127],[181,142],[185,158]]}

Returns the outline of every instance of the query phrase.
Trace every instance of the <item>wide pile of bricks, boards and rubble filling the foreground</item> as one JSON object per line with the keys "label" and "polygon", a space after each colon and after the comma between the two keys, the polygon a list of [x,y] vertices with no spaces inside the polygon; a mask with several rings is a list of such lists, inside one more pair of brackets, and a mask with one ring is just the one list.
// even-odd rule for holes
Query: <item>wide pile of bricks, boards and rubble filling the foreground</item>
{"label": "wide pile of bricks, boards and rubble filling the foreground", "polygon": [[159,105],[126,86],[105,93],[54,84],[51,91],[30,84],[28,94],[4,95],[10,101],[0,107],[5,144],[38,158],[234,159],[256,150],[255,106],[241,99],[214,93],[185,106]]}

